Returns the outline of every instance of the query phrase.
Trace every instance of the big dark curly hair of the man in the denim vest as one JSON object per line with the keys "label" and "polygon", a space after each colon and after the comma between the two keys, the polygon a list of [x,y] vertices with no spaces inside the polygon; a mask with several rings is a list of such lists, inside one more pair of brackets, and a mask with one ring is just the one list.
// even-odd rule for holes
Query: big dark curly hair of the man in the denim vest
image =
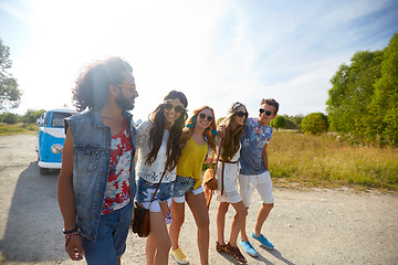
{"label": "big dark curly hair of the man in the denim vest", "polygon": [[109,85],[119,85],[125,80],[125,73],[132,73],[133,67],[121,57],[108,57],[86,66],[75,81],[72,89],[73,105],[77,110],[86,107],[101,109],[105,106]]}

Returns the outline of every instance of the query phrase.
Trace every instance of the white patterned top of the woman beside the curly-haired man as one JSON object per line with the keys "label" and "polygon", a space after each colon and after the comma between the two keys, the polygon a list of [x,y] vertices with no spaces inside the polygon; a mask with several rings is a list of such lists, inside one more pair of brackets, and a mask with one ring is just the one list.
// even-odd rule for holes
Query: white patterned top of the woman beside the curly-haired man
{"label": "white patterned top of the woman beside the curly-haired man", "polygon": [[[169,130],[165,130],[161,146],[156,156],[156,160],[148,165],[146,162],[147,156],[151,150],[151,146],[149,145],[149,131],[153,124],[149,120],[142,123],[137,128],[137,163],[136,163],[136,174],[137,177],[145,179],[150,183],[159,183],[161,174],[165,171],[165,166],[167,161],[167,141],[169,138]],[[176,168],[170,172],[166,171],[161,183],[168,183],[176,180]]]}

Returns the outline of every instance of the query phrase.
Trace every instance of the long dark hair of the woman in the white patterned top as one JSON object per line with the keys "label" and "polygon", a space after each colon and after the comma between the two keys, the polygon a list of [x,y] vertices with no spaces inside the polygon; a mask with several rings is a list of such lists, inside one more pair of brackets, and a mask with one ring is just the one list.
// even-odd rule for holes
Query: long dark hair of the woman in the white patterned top
{"label": "long dark hair of the woman in the white patterned top", "polygon": [[[184,108],[187,108],[188,106],[187,97],[184,95],[182,92],[171,91],[164,98],[165,102],[167,99],[179,99],[184,105]],[[149,146],[151,146],[151,150],[146,159],[146,162],[149,165],[151,165],[156,160],[165,134],[164,110],[165,110],[165,104],[160,104],[151,114],[149,114],[148,119],[153,124],[149,130]],[[177,166],[178,158],[181,153],[179,140],[187,117],[188,117],[187,113],[182,112],[179,118],[172,124],[172,127],[170,129],[169,138],[167,141],[167,151],[166,151],[167,161],[165,167],[169,171],[171,171]]]}

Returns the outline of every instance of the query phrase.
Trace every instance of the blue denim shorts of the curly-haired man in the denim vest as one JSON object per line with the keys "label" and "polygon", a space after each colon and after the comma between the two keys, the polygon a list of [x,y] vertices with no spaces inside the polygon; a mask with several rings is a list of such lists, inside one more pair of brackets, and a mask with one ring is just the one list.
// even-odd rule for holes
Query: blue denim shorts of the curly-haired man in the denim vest
{"label": "blue denim shorts of the curly-haired man in the denim vest", "polygon": [[133,216],[133,202],[101,215],[95,241],[82,237],[85,259],[91,264],[117,265],[116,258],[126,250],[126,239]]}

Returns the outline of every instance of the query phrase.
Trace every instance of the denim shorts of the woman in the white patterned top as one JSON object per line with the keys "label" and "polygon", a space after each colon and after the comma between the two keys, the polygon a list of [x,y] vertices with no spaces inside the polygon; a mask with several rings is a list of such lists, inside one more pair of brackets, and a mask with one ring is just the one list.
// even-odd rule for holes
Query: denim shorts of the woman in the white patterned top
{"label": "denim shorts of the woman in the white patterned top", "polygon": [[[156,187],[158,183],[151,183],[145,179],[139,178],[137,182],[138,191],[136,194],[136,201],[142,203],[144,208],[149,209],[150,200],[154,197]],[[150,205],[151,212],[160,212],[159,202],[167,201],[170,206],[171,197],[174,190],[174,182],[160,183],[158,191],[156,192],[153,204]]]}

